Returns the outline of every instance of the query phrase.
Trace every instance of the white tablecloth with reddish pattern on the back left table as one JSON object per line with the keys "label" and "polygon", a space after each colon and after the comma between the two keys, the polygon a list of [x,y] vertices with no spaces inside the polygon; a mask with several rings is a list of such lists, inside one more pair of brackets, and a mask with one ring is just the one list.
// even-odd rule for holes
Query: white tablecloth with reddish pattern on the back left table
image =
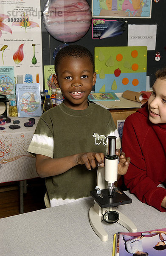
{"label": "white tablecloth with reddish pattern on the back left table", "polygon": [[[13,120],[19,120],[21,128],[10,129]],[[35,117],[35,124],[25,127],[28,118],[11,117],[11,123],[0,125],[5,127],[0,130],[0,183],[38,177],[35,157],[27,152],[38,121],[39,117]]]}

